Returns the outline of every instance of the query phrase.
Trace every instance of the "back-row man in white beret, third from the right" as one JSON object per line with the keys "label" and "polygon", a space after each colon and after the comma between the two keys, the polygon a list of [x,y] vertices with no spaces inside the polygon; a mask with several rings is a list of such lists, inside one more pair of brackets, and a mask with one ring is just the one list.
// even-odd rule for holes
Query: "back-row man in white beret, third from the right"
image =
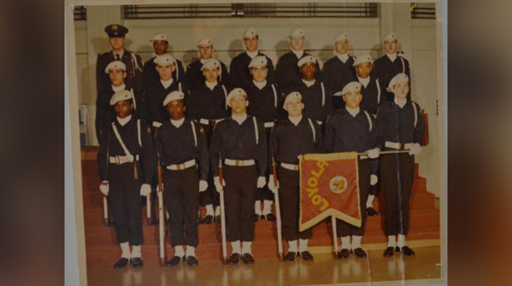
{"label": "back-row man in white beret, third from the right", "polygon": [[[282,90],[287,90],[301,81],[301,71],[298,70],[297,62],[302,57],[309,56],[304,52],[305,37],[306,33],[301,28],[291,31],[289,35],[291,51],[281,56],[275,66],[275,83]],[[318,63],[316,64],[316,73],[317,76],[322,73]]]}

